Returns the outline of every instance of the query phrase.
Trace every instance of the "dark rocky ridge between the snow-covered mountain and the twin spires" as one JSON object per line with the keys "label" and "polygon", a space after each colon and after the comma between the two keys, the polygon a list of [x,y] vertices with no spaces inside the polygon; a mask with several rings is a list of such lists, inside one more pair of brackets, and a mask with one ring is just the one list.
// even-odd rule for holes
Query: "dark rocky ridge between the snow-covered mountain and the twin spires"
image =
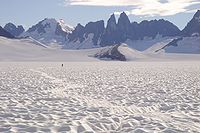
{"label": "dark rocky ridge between the snow-covered mountain and the twin spires", "polygon": [[89,22],[86,26],[82,26],[78,24],[74,31],[69,34],[68,38],[70,41],[77,41],[83,42],[90,33],[94,34],[93,36],[93,43],[94,45],[98,44],[98,40],[101,38],[101,35],[104,31],[104,21],[97,21],[97,22]]}

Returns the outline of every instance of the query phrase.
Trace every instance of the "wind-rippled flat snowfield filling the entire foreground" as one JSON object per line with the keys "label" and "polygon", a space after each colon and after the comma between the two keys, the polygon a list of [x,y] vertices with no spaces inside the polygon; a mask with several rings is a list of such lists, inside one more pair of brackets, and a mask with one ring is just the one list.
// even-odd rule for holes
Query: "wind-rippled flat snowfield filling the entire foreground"
{"label": "wind-rippled flat snowfield filling the entire foreground", "polygon": [[199,62],[1,63],[0,132],[200,132]]}

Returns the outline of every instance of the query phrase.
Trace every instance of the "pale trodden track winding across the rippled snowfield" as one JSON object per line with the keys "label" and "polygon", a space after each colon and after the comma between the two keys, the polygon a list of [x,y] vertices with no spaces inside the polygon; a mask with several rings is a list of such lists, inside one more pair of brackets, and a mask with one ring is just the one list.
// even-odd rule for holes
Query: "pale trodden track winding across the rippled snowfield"
{"label": "pale trodden track winding across the rippled snowfield", "polygon": [[46,79],[49,79],[52,84],[55,85],[55,88],[51,88],[51,92],[61,98],[70,97],[72,99],[76,99],[81,105],[87,104],[87,106],[92,107],[94,110],[95,108],[103,107],[103,108],[109,108],[111,114],[143,114],[143,113],[155,113],[159,111],[159,104],[155,104],[154,106],[150,107],[137,107],[135,105],[132,106],[119,106],[114,105],[113,103],[105,100],[105,99],[94,99],[92,97],[84,96],[82,94],[78,93],[71,93],[70,91],[73,91],[73,89],[76,88],[82,88],[84,89],[84,85],[76,85],[69,82],[64,82],[63,79],[59,79],[53,76],[50,76],[49,74],[35,70],[30,69],[30,71],[40,74],[41,76],[45,77]]}

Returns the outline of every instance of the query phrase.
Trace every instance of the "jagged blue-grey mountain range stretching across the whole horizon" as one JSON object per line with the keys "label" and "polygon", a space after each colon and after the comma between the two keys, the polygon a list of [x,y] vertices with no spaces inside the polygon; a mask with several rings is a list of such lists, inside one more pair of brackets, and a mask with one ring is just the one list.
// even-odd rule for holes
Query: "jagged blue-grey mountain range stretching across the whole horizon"
{"label": "jagged blue-grey mountain range stretching across the whole horizon", "polygon": [[144,20],[141,23],[130,22],[123,12],[116,21],[111,15],[105,26],[104,21],[89,22],[85,26],[78,24],[75,28],[65,24],[63,20],[44,19],[27,31],[23,26],[8,23],[0,27],[0,36],[8,38],[31,37],[45,45],[59,45],[67,49],[84,49],[112,46],[127,41],[156,39],[165,37],[200,36],[200,10],[181,31],[167,20]]}

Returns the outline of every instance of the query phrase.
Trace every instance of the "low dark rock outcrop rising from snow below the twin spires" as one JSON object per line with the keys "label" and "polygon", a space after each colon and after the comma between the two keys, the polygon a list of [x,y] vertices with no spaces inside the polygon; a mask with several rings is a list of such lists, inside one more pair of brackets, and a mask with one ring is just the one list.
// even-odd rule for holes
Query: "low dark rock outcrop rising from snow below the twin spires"
{"label": "low dark rock outcrop rising from snow below the twin spires", "polygon": [[100,52],[100,53],[97,53],[95,55],[96,58],[99,58],[99,59],[112,59],[112,60],[119,60],[119,61],[126,61],[126,57],[121,54],[118,50],[118,47],[120,45],[115,45],[115,46],[112,46],[110,49],[108,49],[107,51],[104,51],[104,52]]}

